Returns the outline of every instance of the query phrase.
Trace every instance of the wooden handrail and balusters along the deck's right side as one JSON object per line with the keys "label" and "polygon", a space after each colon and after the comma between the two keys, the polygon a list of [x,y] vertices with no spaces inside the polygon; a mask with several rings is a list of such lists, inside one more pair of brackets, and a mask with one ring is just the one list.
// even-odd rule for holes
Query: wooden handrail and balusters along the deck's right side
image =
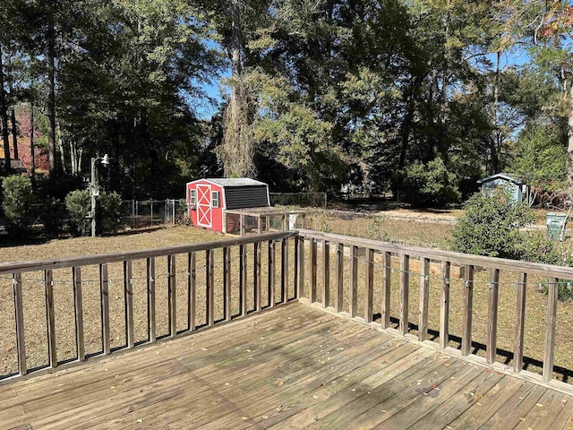
{"label": "wooden handrail and balusters along the deck's right side", "polygon": [[[428,312],[429,312],[429,288],[430,288],[430,264],[431,262],[440,262],[440,274],[435,280],[440,280],[438,285],[432,285],[432,288],[439,288],[440,291],[440,341],[437,348],[449,348],[449,290],[450,290],[450,270],[451,265],[457,265],[460,270],[463,269],[463,300],[458,304],[458,309],[462,309],[462,326],[461,326],[461,355],[469,359],[473,357],[473,336],[472,331],[475,323],[472,321],[474,316],[474,289],[475,289],[475,268],[483,267],[489,270],[488,295],[487,295],[487,333],[486,333],[486,357],[485,362],[489,365],[500,365],[496,363],[497,339],[498,339],[498,307],[500,291],[500,271],[515,273],[517,282],[516,288],[516,323],[514,330],[514,344],[509,347],[513,349],[513,366],[507,367],[510,372],[532,374],[523,371],[524,365],[524,334],[526,321],[526,283],[530,275],[542,276],[547,278],[548,296],[547,296],[547,315],[544,329],[544,350],[543,350],[543,375],[532,376],[539,378],[544,383],[549,383],[553,379],[553,361],[555,357],[555,337],[557,326],[557,306],[558,306],[558,287],[562,280],[573,280],[573,268],[555,266],[550,264],[541,264],[535,262],[522,262],[507,260],[502,258],[486,257],[480,255],[460,254],[449,251],[442,251],[431,248],[420,248],[408,245],[399,245],[388,242],[379,242],[371,239],[363,239],[353,236],[343,236],[337,234],[323,233],[313,230],[298,230],[299,242],[308,242],[307,252],[309,254],[310,268],[310,291],[308,293],[311,302],[317,302],[317,297],[322,297],[322,305],[330,306],[326,297],[329,292],[321,291],[322,288],[329,288],[329,263],[325,262],[329,258],[329,253],[336,252],[336,295],[331,310],[334,312],[346,312],[348,316],[359,318],[365,323],[372,323],[372,314],[377,312],[372,310],[372,297],[374,285],[380,285],[381,288],[381,320],[382,329],[388,329],[390,323],[390,275],[398,271],[398,334],[406,336],[408,334],[409,323],[413,321],[409,317],[409,299],[410,299],[410,278],[413,273],[410,265],[413,259],[419,259],[419,312],[417,339],[426,341],[428,332]],[[345,251],[346,248],[346,251]],[[304,251],[305,247],[301,246]],[[317,250],[321,249],[321,257],[317,256]],[[299,251],[299,258],[304,262],[304,252]],[[381,280],[372,280],[372,264],[375,261],[374,253],[379,254],[381,270]],[[346,254],[346,255],[345,255]],[[362,257],[363,255],[363,257]],[[392,255],[398,258],[392,267]],[[349,275],[347,277],[348,285],[343,288],[343,258],[350,259],[348,263]],[[316,264],[317,260],[322,261],[322,286],[317,286]],[[358,295],[358,267],[359,262],[363,261],[365,284],[363,294],[360,295],[362,303],[357,303]],[[299,274],[299,277],[302,275]],[[303,277],[304,278],[304,277]],[[304,291],[304,285],[299,289]],[[322,293],[322,294],[321,294]],[[376,293],[379,294],[379,293]],[[347,295],[347,309],[343,309],[343,296]],[[358,308],[364,309],[364,316],[358,316]],[[507,328],[504,328],[507,330]],[[573,370],[573,369],[571,369]]]}

